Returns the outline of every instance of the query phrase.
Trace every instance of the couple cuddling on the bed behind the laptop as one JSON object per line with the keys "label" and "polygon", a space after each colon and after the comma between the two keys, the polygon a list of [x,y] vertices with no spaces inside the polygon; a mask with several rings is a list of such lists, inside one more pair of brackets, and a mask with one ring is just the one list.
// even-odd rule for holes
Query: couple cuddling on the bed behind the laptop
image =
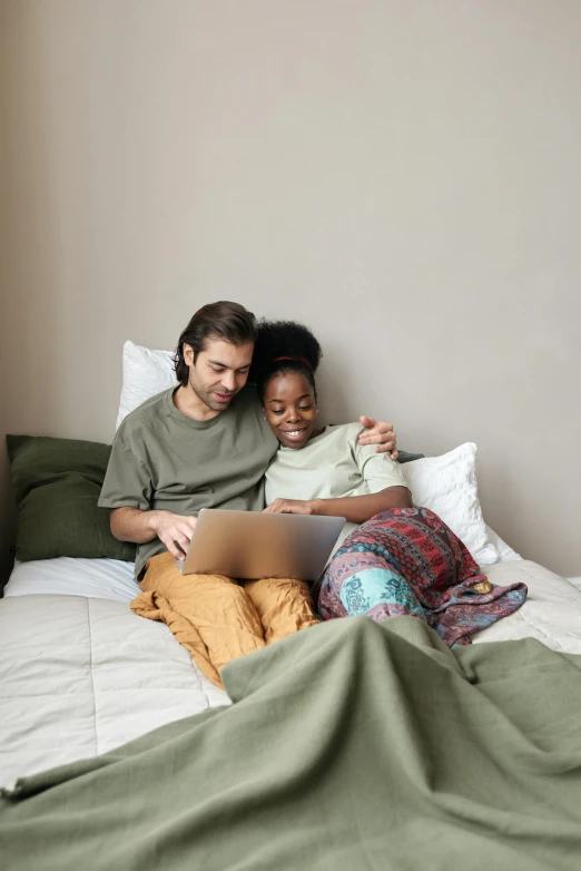
{"label": "couple cuddling on the bed behind the laptop", "polygon": [[[115,438],[99,505],[111,509],[112,534],[138,545],[142,593],[131,607],[164,620],[218,686],[226,663],[317,624],[317,611],[413,615],[453,645],[524,600],[522,585],[492,587],[442,520],[413,508],[391,424],[317,429],[321,355],[299,324],[257,325],[237,303],[205,305],[179,337],[179,386],[136,409]],[[314,589],[290,578],[183,577],[176,558],[201,508],[347,523]]]}

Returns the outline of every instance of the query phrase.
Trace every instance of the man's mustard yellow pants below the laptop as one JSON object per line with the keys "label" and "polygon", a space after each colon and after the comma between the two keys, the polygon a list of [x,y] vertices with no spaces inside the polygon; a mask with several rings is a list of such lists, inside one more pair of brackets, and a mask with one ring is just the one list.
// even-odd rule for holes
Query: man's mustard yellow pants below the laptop
{"label": "man's mustard yellow pants below the laptop", "polygon": [[230,659],[318,623],[303,580],[181,575],[171,554],[159,554],[147,562],[139,586],[132,610],[167,624],[219,687],[219,671]]}

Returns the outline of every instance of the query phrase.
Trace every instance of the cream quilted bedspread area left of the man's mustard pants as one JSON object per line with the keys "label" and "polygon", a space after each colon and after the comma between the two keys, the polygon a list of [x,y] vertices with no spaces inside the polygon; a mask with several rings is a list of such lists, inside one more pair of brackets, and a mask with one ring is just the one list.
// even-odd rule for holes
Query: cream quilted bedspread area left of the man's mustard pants
{"label": "cream quilted bedspread area left of the man's mustard pants", "polygon": [[229,704],[163,623],[104,598],[0,601],[0,785]]}

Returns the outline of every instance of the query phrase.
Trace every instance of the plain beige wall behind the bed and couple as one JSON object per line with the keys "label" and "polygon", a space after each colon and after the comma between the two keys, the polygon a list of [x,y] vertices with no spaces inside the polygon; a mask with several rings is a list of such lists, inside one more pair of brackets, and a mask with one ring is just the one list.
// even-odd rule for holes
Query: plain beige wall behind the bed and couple
{"label": "plain beige wall behind the bed and couple", "polygon": [[235,299],[581,574],[578,0],[0,8],[2,434],[110,440],[124,340]]}

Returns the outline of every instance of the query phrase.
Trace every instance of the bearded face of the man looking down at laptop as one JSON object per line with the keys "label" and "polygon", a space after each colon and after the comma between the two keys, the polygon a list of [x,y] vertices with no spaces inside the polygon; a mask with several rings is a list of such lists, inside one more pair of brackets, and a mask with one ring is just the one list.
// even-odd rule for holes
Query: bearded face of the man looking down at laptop
{"label": "bearded face of the man looking down at laptop", "polygon": [[189,386],[213,411],[225,411],[248,379],[254,344],[233,345],[219,339],[207,339],[194,362],[194,349],[184,344],[184,360],[189,366]]}

